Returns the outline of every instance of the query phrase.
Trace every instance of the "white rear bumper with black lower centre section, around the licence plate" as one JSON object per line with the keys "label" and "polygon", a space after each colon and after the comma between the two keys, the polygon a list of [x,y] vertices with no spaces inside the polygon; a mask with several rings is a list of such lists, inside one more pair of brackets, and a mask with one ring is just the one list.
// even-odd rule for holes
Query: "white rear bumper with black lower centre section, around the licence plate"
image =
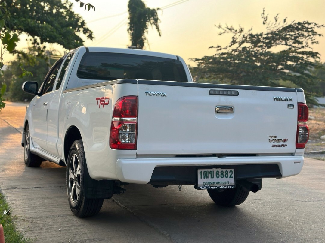
{"label": "white rear bumper with black lower centre section, around the licence plate", "polygon": [[229,156],[118,159],[120,181],[137,184],[191,185],[197,168],[235,168],[236,179],[284,178],[299,174],[304,156]]}

